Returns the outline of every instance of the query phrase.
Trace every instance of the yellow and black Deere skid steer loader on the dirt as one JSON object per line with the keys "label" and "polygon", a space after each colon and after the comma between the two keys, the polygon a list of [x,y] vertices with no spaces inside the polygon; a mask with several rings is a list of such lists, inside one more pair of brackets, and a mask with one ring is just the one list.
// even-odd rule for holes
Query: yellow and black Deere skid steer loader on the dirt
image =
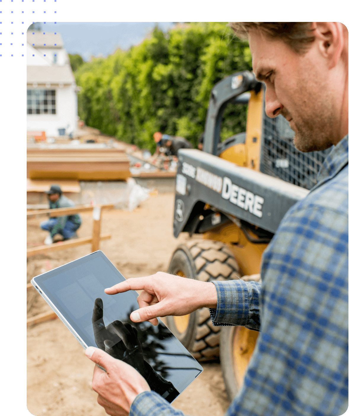
{"label": "yellow and black Deere skid steer loader on the dirt", "polygon": [[[246,132],[221,143],[228,103],[248,104]],[[252,275],[260,272],[263,251],[287,210],[316,184],[331,150],[299,152],[293,136],[283,116],[271,119],[265,114],[265,87],[252,72],[235,73],[213,87],[203,151],[178,152],[173,233],[176,238],[181,232],[194,237],[176,248],[169,273],[205,282],[258,279]],[[201,238],[195,239],[198,234]],[[215,327],[208,308],[166,321],[199,362],[220,357],[233,400],[258,332]]]}

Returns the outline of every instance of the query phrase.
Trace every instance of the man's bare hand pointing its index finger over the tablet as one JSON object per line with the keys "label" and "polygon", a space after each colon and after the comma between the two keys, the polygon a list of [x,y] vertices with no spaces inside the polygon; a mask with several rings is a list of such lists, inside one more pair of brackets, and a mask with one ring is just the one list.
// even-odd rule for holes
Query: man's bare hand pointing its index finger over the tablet
{"label": "man's bare hand pointing its index finger over the tablet", "polygon": [[149,277],[131,277],[104,292],[115,295],[128,290],[142,290],[137,298],[141,309],[131,313],[133,322],[149,321],[157,325],[157,317],[182,316],[202,307],[217,307],[217,292],[213,283],[163,272]]}

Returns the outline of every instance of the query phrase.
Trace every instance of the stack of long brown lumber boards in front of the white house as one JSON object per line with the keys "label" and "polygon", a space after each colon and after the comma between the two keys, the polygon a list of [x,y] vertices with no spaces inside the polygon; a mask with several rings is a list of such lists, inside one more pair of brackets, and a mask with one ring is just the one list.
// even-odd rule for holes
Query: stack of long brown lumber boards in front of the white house
{"label": "stack of long brown lumber boards in front of the white house", "polygon": [[27,178],[76,181],[125,180],[129,158],[117,148],[27,148]]}

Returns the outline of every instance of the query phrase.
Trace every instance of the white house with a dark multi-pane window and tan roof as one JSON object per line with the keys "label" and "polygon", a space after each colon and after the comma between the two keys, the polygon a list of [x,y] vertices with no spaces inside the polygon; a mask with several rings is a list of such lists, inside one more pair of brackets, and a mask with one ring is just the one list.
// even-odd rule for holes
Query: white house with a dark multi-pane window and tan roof
{"label": "white house with a dark multi-pane window and tan roof", "polygon": [[[77,130],[77,87],[59,33],[27,32],[27,131]],[[61,130],[62,133],[62,130]]]}

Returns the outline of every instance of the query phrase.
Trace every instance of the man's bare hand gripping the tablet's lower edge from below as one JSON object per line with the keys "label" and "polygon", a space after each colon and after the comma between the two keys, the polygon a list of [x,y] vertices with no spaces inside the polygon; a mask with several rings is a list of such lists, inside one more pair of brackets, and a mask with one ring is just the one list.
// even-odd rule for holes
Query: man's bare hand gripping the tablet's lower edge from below
{"label": "man's bare hand gripping the tablet's lower edge from below", "polygon": [[123,361],[111,357],[101,349],[88,347],[85,354],[97,365],[94,367],[92,389],[98,393],[97,402],[109,415],[126,416],[136,396],[151,391],[139,372]]}

